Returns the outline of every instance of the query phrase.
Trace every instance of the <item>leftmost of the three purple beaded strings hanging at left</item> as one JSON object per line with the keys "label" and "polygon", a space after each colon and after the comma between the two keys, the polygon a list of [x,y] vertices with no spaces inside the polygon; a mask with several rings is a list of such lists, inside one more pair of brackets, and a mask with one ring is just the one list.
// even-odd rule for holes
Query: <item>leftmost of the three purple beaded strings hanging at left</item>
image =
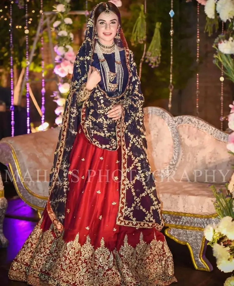
{"label": "leftmost of the three purple beaded strings hanging at left", "polygon": [[13,25],[12,25],[12,4],[14,2],[11,1],[11,5],[10,5],[10,52],[11,52],[11,57],[10,57],[10,65],[11,65],[11,106],[10,106],[10,110],[11,110],[11,136],[14,137],[14,125],[15,125],[15,121],[14,121],[14,66],[13,66],[13,37],[12,37],[12,29],[13,29]]}

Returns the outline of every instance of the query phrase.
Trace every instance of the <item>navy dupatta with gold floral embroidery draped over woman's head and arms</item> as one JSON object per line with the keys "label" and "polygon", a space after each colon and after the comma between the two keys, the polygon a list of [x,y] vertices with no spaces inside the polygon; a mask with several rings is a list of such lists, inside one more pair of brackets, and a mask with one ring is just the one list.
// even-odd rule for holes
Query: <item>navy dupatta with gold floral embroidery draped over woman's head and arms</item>
{"label": "navy dupatta with gold floral embroidery draped over woman's head and arms", "polygon": [[[71,90],[66,99],[50,174],[47,211],[55,229],[61,233],[69,191],[69,157],[75,138],[79,136],[77,126],[81,123],[85,136],[92,144],[108,150],[121,148],[122,175],[116,223],[136,228],[155,227],[160,230],[163,227],[161,203],[157,197],[154,176],[146,155],[147,143],[143,123],[144,97],[133,53],[127,48],[122,29],[121,41],[117,44],[124,47],[129,72],[125,91],[116,97],[108,97],[106,92],[97,85],[90,96],[85,93],[88,69],[95,47],[94,15],[98,5],[92,11],[87,23],[85,40],[74,64]],[[116,103],[122,106],[123,115],[120,120],[113,121],[105,115]]]}

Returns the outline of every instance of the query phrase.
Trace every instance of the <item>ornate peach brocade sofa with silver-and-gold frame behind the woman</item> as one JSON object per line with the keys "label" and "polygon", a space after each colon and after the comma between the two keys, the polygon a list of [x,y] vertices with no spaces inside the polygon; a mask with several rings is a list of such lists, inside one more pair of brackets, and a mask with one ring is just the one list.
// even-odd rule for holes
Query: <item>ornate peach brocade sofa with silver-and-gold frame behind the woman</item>
{"label": "ornate peach brocade sofa with silver-and-gold frame behind the woman", "polygon": [[[163,204],[165,234],[188,246],[195,269],[211,271],[203,229],[218,221],[210,183],[220,188],[232,175],[228,135],[193,116],[173,117],[158,107],[146,107],[144,113],[147,152]],[[56,128],[0,141],[0,162],[13,174],[18,195],[39,214],[47,201],[58,133]]]}

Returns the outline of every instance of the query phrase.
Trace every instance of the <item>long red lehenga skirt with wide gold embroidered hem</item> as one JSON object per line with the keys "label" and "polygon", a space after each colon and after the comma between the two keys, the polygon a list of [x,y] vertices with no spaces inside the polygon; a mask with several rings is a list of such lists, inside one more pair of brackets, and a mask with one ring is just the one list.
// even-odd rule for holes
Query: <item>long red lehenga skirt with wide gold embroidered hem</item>
{"label": "long red lehenga skirt with wide gold embroidered hem", "polygon": [[64,232],[45,209],[9,278],[34,286],[156,286],[176,282],[162,233],[116,224],[119,151],[91,144],[82,127],[71,152]]}

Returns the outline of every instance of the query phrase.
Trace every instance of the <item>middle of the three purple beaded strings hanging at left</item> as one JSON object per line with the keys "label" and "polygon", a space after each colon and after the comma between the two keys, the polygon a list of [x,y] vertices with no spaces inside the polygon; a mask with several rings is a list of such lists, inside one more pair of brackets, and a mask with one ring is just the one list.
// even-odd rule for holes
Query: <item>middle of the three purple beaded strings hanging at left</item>
{"label": "middle of the three purple beaded strings hanging at left", "polygon": [[26,107],[27,107],[27,134],[30,133],[30,99],[29,99],[29,61],[28,61],[28,4],[29,0],[25,2],[25,26],[26,26]]}

